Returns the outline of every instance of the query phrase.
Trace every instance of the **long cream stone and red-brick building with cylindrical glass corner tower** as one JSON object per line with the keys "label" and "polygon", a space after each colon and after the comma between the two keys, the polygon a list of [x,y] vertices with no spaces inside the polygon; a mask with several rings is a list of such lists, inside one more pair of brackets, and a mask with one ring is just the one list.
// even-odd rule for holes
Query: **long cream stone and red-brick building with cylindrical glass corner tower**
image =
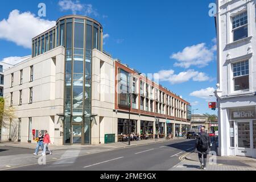
{"label": "long cream stone and red-brick building with cylindrical glass corner tower", "polygon": [[99,144],[106,135],[118,142],[121,134],[188,129],[189,103],[105,53],[102,31],[96,20],[70,15],[32,39],[31,59],[5,72],[15,118],[5,121],[2,141],[35,143],[48,130],[54,144]]}

